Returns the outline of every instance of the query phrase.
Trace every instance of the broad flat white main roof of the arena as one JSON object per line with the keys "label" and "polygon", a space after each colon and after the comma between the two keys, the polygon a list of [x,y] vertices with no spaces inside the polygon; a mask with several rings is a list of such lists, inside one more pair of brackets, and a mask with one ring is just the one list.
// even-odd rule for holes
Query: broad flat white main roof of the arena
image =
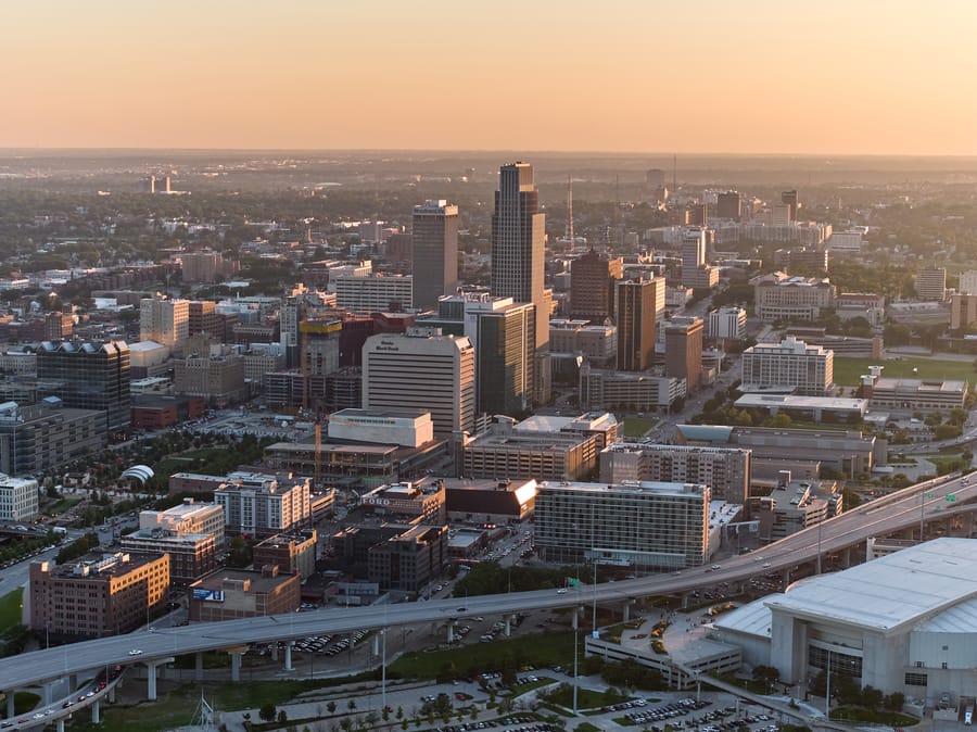
{"label": "broad flat white main roof of the arena", "polygon": [[[977,541],[936,539],[824,575],[766,601],[773,611],[867,630],[892,631],[977,598]],[[956,609],[956,608],[954,608]],[[936,616],[936,617],[935,617]]]}

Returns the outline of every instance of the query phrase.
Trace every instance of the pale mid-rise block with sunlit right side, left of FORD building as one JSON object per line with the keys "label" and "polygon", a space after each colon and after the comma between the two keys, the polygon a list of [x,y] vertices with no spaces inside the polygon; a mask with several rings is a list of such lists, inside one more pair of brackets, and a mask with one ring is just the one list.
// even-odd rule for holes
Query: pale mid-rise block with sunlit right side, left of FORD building
{"label": "pale mid-rise block with sunlit right side, left of FORD building", "polygon": [[214,491],[214,502],[224,508],[229,532],[270,537],[308,525],[309,478],[238,472],[228,481]]}

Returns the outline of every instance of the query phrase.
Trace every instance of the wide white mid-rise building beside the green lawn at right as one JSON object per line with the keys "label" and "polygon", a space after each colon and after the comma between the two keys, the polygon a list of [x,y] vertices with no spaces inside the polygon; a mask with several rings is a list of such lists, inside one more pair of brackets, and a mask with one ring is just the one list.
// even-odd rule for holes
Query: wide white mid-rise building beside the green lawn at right
{"label": "wide white mid-rise building beside the green lawn at right", "polygon": [[757,343],[743,352],[744,392],[824,396],[835,387],[835,354],[788,336],[779,343]]}

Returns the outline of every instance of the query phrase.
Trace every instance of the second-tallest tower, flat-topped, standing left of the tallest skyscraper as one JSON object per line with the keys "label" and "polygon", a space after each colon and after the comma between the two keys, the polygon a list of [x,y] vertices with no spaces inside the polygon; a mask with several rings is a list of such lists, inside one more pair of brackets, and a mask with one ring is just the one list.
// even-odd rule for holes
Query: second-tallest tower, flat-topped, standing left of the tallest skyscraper
{"label": "second-tallest tower, flat-topped, standing left of the tallest skyscraper", "polygon": [[458,286],[458,206],[427,201],[414,206],[414,307],[429,311]]}

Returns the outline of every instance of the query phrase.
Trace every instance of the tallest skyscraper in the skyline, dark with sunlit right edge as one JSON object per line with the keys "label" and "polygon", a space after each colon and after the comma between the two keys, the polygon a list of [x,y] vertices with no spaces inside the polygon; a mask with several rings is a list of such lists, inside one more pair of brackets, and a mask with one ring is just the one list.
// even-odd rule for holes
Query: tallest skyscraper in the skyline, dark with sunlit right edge
{"label": "tallest skyscraper in the skyline, dark with sunlit right edge", "polygon": [[[492,214],[492,294],[536,306],[536,349],[549,345],[549,301],[543,285],[546,214],[533,166],[510,163],[499,168]],[[415,244],[416,245],[416,244]]]}

